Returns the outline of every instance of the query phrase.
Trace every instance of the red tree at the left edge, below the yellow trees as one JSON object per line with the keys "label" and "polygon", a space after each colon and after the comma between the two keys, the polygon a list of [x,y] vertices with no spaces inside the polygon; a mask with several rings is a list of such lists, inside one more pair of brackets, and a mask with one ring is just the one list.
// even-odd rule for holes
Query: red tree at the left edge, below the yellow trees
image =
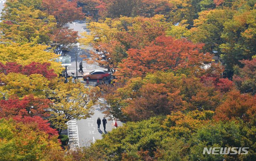
{"label": "red tree at the left edge, below the yellow trees", "polygon": [[45,109],[49,108],[50,100],[35,98],[33,95],[0,100],[0,118],[12,116],[48,116]]}

